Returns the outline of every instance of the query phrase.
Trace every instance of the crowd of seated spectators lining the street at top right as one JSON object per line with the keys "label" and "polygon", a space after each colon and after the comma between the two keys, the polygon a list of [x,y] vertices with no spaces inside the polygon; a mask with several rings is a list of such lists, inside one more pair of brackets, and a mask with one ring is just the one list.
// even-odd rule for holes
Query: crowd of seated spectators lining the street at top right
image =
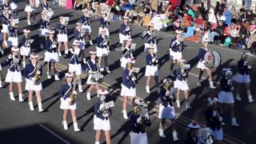
{"label": "crowd of seated spectators lining the street at top right", "polygon": [[59,0],[67,9],[90,9],[99,15],[108,10],[110,19],[121,21],[129,16],[129,21],[139,26],[154,24],[155,30],[183,30],[186,40],[200,42],[209,38],[210,42],[227,48],[245,49],[255,53],[256,23],[254,13],[244,8],[234,14],[227,8],[226,2],[220,0],[215,6],[203,2],[173,6],[172,0]]}

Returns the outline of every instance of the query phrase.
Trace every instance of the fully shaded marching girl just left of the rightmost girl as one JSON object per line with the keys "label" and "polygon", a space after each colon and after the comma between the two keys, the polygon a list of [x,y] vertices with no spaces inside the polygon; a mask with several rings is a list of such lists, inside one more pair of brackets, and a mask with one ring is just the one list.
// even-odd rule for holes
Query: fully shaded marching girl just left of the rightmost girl
{"label": "fully shaded marching girl just left of the rightmost girl", "polygon": [[228,104],[230,106],[231,125],[240,126],[234,117],[234,96],[232,93],[234,86],[232,85],[231,80],[232,71],[230,68],[224,68],[222,69],[222,72],[223,77],[220,82],[221,91],[218,93],[218,103],[220,104],[220,109],[222,110],[223,104]]}

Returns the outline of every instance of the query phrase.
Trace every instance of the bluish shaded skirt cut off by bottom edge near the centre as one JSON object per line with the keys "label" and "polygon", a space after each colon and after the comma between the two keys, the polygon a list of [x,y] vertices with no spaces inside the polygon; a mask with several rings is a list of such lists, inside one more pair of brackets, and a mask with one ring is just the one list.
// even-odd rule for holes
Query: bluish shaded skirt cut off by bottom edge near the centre
{"label": "bluish shaded skirt cut off by bottom edge near the centre", "polygon": [[148,144],[146,132],[143,134],[130,132],[130,144]]}

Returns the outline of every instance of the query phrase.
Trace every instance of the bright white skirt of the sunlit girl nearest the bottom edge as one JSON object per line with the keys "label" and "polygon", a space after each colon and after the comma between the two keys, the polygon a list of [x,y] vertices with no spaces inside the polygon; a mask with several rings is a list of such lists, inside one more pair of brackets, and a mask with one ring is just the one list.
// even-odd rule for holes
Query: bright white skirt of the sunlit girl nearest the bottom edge
{"label": "bright white skirt of the sunlit girl nearest the bottom edge", "polygon": [[110,118],[102,120],[94,114],[94,130],[111,130]]}

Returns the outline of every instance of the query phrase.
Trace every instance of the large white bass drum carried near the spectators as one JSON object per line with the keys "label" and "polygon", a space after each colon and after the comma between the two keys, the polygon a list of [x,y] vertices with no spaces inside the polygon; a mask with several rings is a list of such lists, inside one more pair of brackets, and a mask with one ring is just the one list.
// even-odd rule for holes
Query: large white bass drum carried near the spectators
{"label": "large white bass drum carried near the spectators", "polygon": [[217,68],[222,63],[221,54],[218,51],[208,51],[206,52],[205,58],[205,65],[206,67],[210,68]]}

